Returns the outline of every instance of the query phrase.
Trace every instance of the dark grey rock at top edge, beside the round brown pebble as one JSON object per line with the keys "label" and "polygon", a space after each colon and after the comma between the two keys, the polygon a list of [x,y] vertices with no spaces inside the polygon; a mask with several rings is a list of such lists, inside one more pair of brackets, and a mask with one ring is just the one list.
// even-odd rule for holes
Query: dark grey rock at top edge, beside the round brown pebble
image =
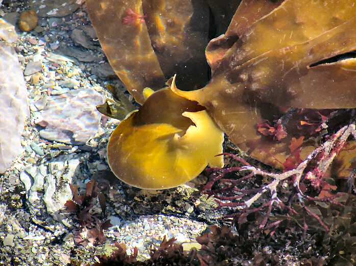
{"label": "dark grey rock at top edge, beside the round brown pebble", "polygon": [[76,0],[31,0],[30,6],[39,17],[64,17],[80,7],[75,2]]}

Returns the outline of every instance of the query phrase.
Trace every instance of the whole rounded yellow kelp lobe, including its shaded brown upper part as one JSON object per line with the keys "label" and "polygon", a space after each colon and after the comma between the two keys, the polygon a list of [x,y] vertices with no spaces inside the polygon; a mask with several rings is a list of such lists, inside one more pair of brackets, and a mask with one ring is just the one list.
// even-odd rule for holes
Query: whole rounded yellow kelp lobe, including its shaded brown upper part
{"label": "whole rounded yellow kelp lobe, including its shaded brown upper part", "polygon": [[[173,80],[174,84],[174,80]],[[108,162],[123,182],[168,189],[223,166],[223,132],[197,102],[171,90],[146,91],[146,101],[114,130]]]}

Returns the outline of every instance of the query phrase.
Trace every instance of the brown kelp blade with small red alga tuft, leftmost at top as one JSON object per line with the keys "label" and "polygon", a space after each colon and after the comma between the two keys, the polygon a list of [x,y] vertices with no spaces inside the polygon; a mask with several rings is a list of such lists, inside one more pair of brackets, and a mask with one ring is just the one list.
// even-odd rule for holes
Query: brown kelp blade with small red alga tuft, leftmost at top
{"label": "brown kelp blade with small red alga tuft, leftmost at top", "polygon": [[110,65],[136,101],[143,102],[144,87],[163,88],[165,77],[151,46],[141,1],[86,3]]}

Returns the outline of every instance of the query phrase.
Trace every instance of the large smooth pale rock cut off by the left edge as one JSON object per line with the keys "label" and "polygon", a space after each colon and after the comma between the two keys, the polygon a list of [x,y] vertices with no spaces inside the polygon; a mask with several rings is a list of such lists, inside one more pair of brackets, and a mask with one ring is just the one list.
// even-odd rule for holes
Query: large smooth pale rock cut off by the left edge
{"label": "large smooth pale rock cut off by the left edge", "polygon": [[5,41],[16,40],[5,21],[0,23],[0,173],[21,153],[21,134],[29,114],[27,89],[14,49]]}

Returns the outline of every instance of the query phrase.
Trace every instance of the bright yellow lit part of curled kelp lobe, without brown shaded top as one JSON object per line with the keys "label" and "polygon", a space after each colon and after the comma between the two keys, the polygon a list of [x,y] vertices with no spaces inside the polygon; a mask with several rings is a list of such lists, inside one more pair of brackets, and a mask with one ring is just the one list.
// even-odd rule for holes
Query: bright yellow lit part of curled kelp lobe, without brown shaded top
{"label": "bright yellow lit part of curled kelp lobe, without brown shaded top", "polygon": [[[222,167],[223,133],[206,111],[183,113],[195,123],[186,133],[166,123],[135,126],[133,113],[110,137],[108,163],[123,182],[169,189],[190,181],[209,164]],[[184,134],[181,136],[180,134]]]}

